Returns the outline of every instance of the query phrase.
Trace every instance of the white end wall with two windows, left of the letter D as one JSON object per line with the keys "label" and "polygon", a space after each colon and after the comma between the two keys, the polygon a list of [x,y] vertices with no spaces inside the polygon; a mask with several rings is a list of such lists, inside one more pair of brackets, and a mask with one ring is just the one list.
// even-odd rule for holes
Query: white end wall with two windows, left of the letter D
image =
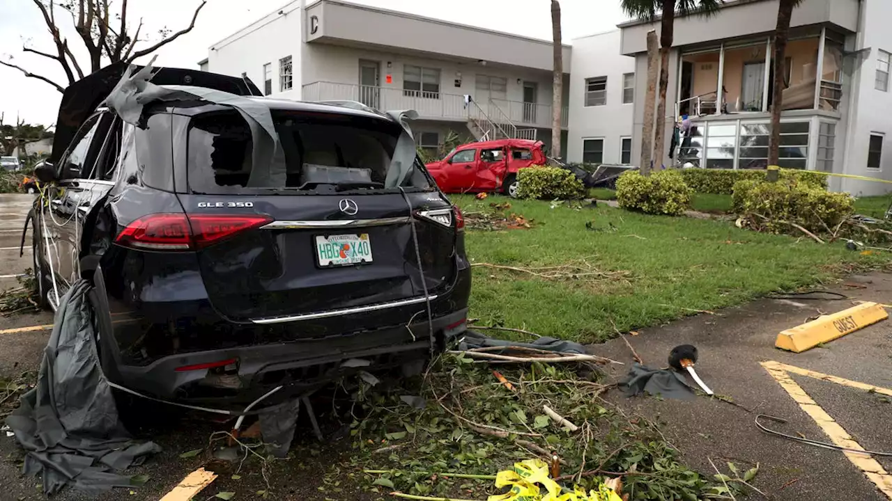
{"label": "white end wall with two windows, left of the letter D", "polygon": [[[278,12],[282,12],[281,14]],[[248,78],[263,92],[263,65],[270,63],[273,97],[301,98],[301,5],[293,2],[234,35],[211,45],[207,70],[223,75]],[[292,57],[293,85],[279,91],[279,60]]]}

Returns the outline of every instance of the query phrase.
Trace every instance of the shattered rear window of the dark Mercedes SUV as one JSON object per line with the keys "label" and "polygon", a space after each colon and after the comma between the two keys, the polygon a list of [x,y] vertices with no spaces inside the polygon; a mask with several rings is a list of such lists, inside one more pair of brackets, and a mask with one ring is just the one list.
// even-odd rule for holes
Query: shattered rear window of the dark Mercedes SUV
{"label": "shattered rear window of the dark Mercedes SUV", "polygon": [[[188,131],[188,185],[194,193],[384,187],[401,127],[339,113],[272,111],[280,152],[253,165],[251,128],[237,111],[198,115]],[[414,152],[413,152],[414,154]],[[417,159],[402,183],[428,187]],[[284,165],[283,165],[284,164]]]}

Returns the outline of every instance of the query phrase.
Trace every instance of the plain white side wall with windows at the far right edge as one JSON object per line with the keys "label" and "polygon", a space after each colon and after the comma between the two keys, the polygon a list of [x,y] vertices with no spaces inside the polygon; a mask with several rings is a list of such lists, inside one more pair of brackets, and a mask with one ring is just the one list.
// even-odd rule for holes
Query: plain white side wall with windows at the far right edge
{"label": "plain white side wall with windows at the far right edge", "polygon": [[[845,143],[843,172],[855,176],[892,179],[892,85],[887,92],[874,86],[880,50],[892,53],[892,31],[886,20],[892,18],[892,2],[863,0],[861,29],[855,49],[870,47],[869,55],[855,60],[851,109],[854,111]],[[872,133],[886,136],[883,142],[880,170],[867,168],[868,144]],[[838,140],[842,140],[838,137]],[[838,171],[838,169],[836,169]],[[841,189],[855,196],[887,193],[888,184],[843,178]]]}

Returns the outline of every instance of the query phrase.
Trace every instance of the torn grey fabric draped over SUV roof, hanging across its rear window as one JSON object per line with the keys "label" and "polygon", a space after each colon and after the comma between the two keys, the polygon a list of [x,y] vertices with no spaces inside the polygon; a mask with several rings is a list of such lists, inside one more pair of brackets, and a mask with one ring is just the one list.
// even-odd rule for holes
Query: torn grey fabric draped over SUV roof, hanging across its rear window
{"label": "torn grey fabric draped over SUV roof, hanging across its rear window", "polygon": [[[279,144],[272,114],[266,104],[236,94],[196,86],[156,86],[153,76],[154,58],[140,70],[131,65],[104,104],[114,110],[120,119],[139,126],[143,108],[150,103],[165,101],[194,101],[220,104],[238,111],[251,129],[254,168],[247,187],[285,186],[287,171],[285,152]],[[135,71],[136,70],[136,71]],[[413,143],[414,147],[414,143]],[[257,168],[268,166],[268,168]]]}

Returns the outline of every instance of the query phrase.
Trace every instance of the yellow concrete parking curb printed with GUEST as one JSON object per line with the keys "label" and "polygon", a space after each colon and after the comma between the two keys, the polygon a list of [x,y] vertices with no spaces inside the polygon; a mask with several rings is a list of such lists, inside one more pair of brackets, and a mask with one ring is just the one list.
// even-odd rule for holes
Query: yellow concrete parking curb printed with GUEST
{"label": "yellow concrete parking curb printed with GUEST", "polygon": [[847,333],[854,333],[870,324],[876,324],[880,320],[887,319],[888,316],[883,305],[865,302],[837,313],[819,316],[811,322],[787,329],[778,334],[774,346],[800,353],[821,343],[841,338]]}

